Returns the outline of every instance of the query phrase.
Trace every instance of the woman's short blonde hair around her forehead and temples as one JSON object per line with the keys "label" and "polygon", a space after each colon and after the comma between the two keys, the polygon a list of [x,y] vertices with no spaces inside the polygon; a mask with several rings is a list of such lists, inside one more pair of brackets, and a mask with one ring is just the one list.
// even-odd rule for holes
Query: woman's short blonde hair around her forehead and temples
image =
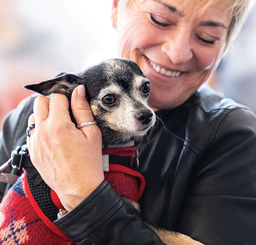
{"label": "woman's short blonde hair around her forehead and temples", "polygon": [[[130,6],[134,1],[142,2],[145,0],[119,0],[119,7]],[[185,4],[191,3],[192,1],[194,2],[195,0],[186,0]],[[207,7],[211,6],[212,4],[218,1],[226,1],[226,0],[205,0],[205,1],[201,0],[199,3],[202,6],[200,11],[206,10]],[[228,27],[226,50],[227,50],[227,47],[230,45],[231,41],[235,39],[239,31],[242,29],[244,21],[247,17],[247,14],[250,11],[252,5],[255,3],[255,0],[233,0],[233,2],[234,3],[231,4],[231,7],[230,7],[231,16],[230,16],[230,23]]]}

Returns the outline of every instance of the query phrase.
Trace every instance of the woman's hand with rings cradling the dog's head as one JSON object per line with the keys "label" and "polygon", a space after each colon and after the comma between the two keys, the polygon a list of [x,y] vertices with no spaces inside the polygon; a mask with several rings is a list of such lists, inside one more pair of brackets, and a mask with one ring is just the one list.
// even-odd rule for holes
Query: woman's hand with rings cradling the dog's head
{"label": "woman's hand with rings cradling the dog's head", "polygon": [[[94,120],[83,85],[74,89],[71,108],[77,124]],[[37,97],[28,125],[34,123],[27,137],[31,161],[70,211],[104,179],[100,129],[97,125],[77,129],[63,94]]]}

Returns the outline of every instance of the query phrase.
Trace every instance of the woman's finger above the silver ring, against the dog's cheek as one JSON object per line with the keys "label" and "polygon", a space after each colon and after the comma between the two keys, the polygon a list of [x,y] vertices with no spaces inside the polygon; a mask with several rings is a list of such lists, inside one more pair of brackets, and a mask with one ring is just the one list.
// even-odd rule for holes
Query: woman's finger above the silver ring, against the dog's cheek
{"label": "woman's finger above the silver ring, against the dog's cheek", "polygon": [[71,95],[71,109],[77,124],[93,121],[90,105],[85,97],[84,85],[77,86]]}

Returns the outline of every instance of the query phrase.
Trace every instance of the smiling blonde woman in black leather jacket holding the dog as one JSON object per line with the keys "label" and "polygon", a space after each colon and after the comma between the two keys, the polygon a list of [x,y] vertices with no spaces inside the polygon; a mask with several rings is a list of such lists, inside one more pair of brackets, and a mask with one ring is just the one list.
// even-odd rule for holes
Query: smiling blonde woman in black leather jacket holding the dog
{"label": "smiling blonde woman in black leather jacket holding the dog", "polygon": [[[256,241],[256,117],[200,87],[249,5],[245,0],[113,1],[119,55],[138,63],[150,79],[149,105],[165,125],[151,130],[140,148],[147,183],[142,217],[205,244]],[[73,92],[78,124],[93,120],[84,95],[83,87]],[[24,140],[16,129],[32,103],[6,119],[3,158]],[[27,138],[31,160],[68,211],[54,223],[77,244],[162,244],[104,180],[99,128],[76,129],[67,108],[62,94],[37,97],[28,121],[36,124]]]}

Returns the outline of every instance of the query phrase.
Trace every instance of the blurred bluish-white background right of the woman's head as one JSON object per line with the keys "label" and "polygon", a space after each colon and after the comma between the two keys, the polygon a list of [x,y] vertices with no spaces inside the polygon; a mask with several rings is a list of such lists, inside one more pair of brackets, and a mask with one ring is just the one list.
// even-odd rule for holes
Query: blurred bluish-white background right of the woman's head
{"label": "blurred bluish-white background right of the woman's head", "polygon": [[209,81],[215,90],[245,104],[256,113],[256,5]]}

